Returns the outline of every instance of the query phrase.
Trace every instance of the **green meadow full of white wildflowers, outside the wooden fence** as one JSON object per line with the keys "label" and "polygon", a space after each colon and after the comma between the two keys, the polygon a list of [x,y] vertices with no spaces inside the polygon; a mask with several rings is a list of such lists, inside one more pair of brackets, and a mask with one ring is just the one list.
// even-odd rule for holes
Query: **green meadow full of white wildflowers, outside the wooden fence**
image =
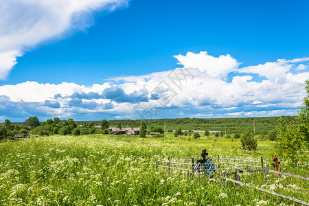
{"label": "green meadow full of white wildflowers, outside the wooden fence", "polygon": [[[239,140],[171,134],[164,140],[111,135],[5,140],[0,142],[0,205],[297,205],[221,184],[219,178],[156,168],[157,159],[199,157],[203,149],[220,157],[263,156],[271,163],[274,145],[259,141],[258,152],[250,153],[240,149]],[[297,166],[286,161],[282,167],[308,175],[308,161]],[[242,174],[242,181],[308,202],[308,181],[270,175],[265,184],[263,178],[264,172]]]}

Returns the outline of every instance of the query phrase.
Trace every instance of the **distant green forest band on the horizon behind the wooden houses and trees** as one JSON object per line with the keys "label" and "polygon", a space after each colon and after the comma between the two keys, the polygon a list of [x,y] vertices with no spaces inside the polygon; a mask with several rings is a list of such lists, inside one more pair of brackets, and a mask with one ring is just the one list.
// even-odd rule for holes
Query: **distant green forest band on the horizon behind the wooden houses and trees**
{"label": "distant green forest band on the horizon behind the wooden houses and trees", "polygon": [[[296,116],[283,116],[287,123],[295,120]],[[255,124],[255,134],[267,135],[278,125],[279,117],[240,117],[240,118],[218,118],[218,119],[199,119],[199,118],[182,118],[182,119],[146,119],[147,128],[164,128],[166,122],[167,130],[227,130],[227,133],[242,133],[244,130],[253,130],[253,120]],[[100,121],[94,121],[95,125],[100,125]],[[83,122],[76,122],[83,124]],[[139,127],[141,120],[109,120],[111,127]]]}

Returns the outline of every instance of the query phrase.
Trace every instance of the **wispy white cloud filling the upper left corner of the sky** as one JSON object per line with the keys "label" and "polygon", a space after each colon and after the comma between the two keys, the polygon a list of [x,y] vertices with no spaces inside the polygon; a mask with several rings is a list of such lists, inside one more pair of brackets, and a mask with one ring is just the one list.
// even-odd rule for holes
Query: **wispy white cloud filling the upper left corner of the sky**
{"label": "wispy white cloud filling the upper left corner of the sky", "polygon": [[0,80],[28,49],[89,27],[94,10],[113,11],[127,4],[128,0],[0,0]]}

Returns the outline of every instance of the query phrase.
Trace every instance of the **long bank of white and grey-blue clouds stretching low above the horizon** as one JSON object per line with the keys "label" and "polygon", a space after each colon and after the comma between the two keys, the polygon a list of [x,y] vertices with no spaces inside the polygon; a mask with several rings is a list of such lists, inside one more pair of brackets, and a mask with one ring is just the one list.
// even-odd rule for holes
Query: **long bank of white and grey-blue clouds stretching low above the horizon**
{"label": "long bank of white and grey-blue clouds stretching low above the horizon", "polygon": [[240,67],[230,55],[188,52],[174,57],[181,68],[115,77],[103,84],[1,86],[0,121],[24,121],[30,115],[41,119],[295,115],[306,95],[309,58]]}

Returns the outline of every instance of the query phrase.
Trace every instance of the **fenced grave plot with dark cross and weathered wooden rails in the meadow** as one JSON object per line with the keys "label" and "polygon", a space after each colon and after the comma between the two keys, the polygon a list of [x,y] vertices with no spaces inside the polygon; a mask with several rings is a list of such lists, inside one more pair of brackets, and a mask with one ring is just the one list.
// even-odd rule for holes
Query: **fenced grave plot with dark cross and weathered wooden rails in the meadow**
{"label": "fenced grave plot with dark cross and weathered wooden rails in the meadow", "polygon": [[[202,159],[175,159],[166,157],[157,160],[157,168],[168,172],[182,172],[190,175],[205,176],[216,179],[222,186],[231,182],[240,187],[251,187],[264,193],[286,198],[293,203],[309,206],[309,178],[269,170],[268,164],[263,165],[263,158],[242,159],[239,157],[214,157],[206,159],[203,150]],[[220,180],[220,181],[219,181]]]}

